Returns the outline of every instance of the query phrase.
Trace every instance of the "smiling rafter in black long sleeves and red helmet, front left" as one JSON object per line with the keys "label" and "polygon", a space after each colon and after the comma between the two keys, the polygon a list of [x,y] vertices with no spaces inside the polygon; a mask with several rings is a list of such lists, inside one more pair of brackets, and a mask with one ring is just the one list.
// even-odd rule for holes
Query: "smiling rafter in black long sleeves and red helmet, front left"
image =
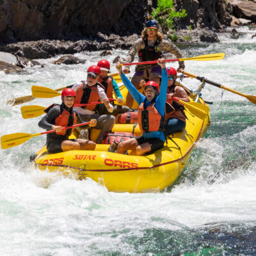
{"label": "smiling rafter in black long sleeves and red helmet, front left", "polygon": [[[61,127],[68,127],[76,124],[77,115],[73,109],[76,92],[71,88],[66,88],[61,92],[61,105],[52,104],[45,109],[47,113],[38,126],[56,132],[48,133],[46,139],[46,147],[49,153],[58,153],[68,150],[94,150],[96,143],[89,140],[74,139],[68,140],[74,129],[62,130]],[[87,127],[96,125],[96,120],[90,120],[91,124]]]}

